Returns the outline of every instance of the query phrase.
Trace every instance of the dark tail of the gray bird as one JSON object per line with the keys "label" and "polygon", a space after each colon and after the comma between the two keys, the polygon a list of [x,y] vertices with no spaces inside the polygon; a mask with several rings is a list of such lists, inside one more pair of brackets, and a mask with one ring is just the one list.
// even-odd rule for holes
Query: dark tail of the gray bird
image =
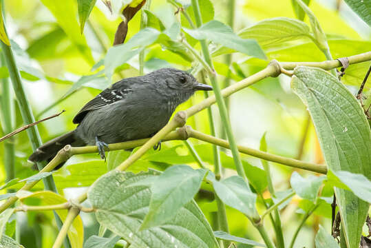
{"label": "dark tail of the gray bird", "polygon": [[[37,148],[36,151],[31,154],[31,156],[28,158],[29,161],[36,163],[40,161],[51,161],[54,156],[56,156],[57,152],[59,152],[60,149],[65,147],[65,145],[72,145],[72,146],[84,146],[86,145],[81,138],[76,136],[75,131],[68,132],[67,134],[63,134],[59,137],[53,138],[50,141],[47,141],[44,145],[41,145],[41,147]],[[58,165],[56,169],[61,167],[61,165]]]}

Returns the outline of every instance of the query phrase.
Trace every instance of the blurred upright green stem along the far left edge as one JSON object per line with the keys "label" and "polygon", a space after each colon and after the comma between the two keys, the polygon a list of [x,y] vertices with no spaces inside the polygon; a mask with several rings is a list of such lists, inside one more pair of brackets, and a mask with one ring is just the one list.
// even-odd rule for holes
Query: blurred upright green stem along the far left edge
{"label": "blurred upright green stem along the far left edge", "polygon": [[[5,64],[3,54],[0,55],[1,65]],[[1,86],[3,94],[1,97],[1,112],[3,114],[3,132],[9,134],[14,129],[15,116],[14,116],[14,101],[12,98],[12,91],[10,89],[10,83],[8,79],[1,79]],[[14,166],[15,166],[15,149],[14,149],[14,138],[8,139],[4,142],[4,166],[6,169],[6,182],[15,178]],[[8,193],[14,192],[12,189],[8,189]]]}

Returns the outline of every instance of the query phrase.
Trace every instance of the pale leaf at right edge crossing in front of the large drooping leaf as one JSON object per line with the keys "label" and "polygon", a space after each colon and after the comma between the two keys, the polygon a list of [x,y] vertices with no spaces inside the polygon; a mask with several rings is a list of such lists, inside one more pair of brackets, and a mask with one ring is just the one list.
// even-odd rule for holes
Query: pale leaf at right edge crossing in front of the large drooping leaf
{"label": "pale leaf at right edge crossing in front of the large drooping leaf", "polygon": [[351,190],[353,194],[371,203],[371,181],[363,174],[354,174],[346,171],[328,173],[328,180],[336,187]]}

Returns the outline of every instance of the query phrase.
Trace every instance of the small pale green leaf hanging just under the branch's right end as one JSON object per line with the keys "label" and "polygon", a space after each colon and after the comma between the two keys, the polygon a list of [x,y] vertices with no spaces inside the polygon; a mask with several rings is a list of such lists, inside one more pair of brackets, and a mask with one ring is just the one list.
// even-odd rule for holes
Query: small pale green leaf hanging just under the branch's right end
{"label": "small pale green leaf hanging just under the branch's right end", "polygon": [[308,178],[303,178],[299,173],[294,172],[293,175],[291,175],[290,184],[298,196],[315,201],[319,188],[324,180],[325,176],[310,175]]}

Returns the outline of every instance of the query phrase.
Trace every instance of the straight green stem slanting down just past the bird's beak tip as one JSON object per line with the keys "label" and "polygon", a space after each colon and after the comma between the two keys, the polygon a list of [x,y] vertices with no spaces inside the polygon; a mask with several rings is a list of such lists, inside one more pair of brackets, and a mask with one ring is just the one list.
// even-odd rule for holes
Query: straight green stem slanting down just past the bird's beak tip
{"label": "straight green stem slanting down just past the bird's beak tip", "polygon": [[[201,18],[200,6],[198,5],[198,0],[192,0],[191,4],[192,4],[192,7],[193,7],[193,13],[195,15],[196,25],[198,27],[200,27],[202,25],[202,18]],[[206,41],[204,41],[204,40],[200,41],[200,44],[201,44],[201,48],[202,48],[202,53],[204,54],[204,59],[205,59],[206,63],[209,64],[209,66],[212,70],[211,73],[209,72],[210,81],[211,81],[211,85],[213,85],[213,92],[215,94],[215,99],[218,103],[220,117],[222,118],[222,123],[223,123],[223,126],[224,126],[224,131],[226,132],[226,136],[228,137],[229,143],[231,145],[231,152],[233,154],[233,159],[235,161],[237,174],[239,176],[241,176],[242,178],[244,178],[244,180],[247,183],[248,179],[247,179],[246,174],[244,172],[244,167],[242,165],[240,154],[238,153],[238,150],[237,150],[237,145],[235,143],[235,138],[233,136],[232,126],[231,126],[231,122],[229,121],[229,115],[228,115],[228,112],[226,110],[226,105],[224,103],[222,93],[220,92],[219,84],[216,81],[215,70],[213,70],[213,63],[211,61],[209,48],[207,47]]]}

